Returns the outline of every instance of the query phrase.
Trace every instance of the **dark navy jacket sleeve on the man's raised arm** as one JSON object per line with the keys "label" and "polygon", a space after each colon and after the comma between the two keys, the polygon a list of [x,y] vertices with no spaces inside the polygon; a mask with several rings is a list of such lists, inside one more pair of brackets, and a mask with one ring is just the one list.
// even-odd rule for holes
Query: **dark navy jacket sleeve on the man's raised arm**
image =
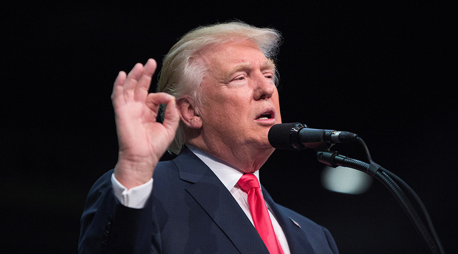
{"label": "dark navy jacket sleeve on the man's raised arm", "polygon": [[79,253],[159,253],[152,195],[144,208],[123,206],[113,193],[112,170],[92,186],[81,215]]}

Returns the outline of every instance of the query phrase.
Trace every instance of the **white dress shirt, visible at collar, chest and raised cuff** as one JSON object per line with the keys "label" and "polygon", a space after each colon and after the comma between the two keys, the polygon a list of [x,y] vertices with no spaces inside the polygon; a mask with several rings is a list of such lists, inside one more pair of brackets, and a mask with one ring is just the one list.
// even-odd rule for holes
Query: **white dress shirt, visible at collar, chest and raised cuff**
{"label": "white dress shirt, visible at collar, chest and raised cuff", "polygon": [[[212,155],[198,148],[189,145],[188,148],[198,158],[200,158],[213,171],[213,173],[215,173],[215,175],[219,178],[219,180],[223,183],[227,190],[229,190],[234,199],[240,205],[242,210],[245,212],[246,216],[250,219],[251,224],[253,224],[253,219],[251,217],[250,209],[247,202],[248,194],[245,193],[237,184],[240,177],[242,177],[243,172],[237,169],[236,167],[224,161],[221,161],[218,158],[213,157]],[[259,181],[259,171],[256,171],[253,174]],[[147,183],[127,189],[115,178],[115,174],[111,175],[111,183],[113,186],[113,190],[115,192],[115,196],[118,198],[121,204],[131,208],[143,208],[153,188],[153,179],[151,179]],[[288,246],[288,241],[283,233],[283,230],[278,224],[278,221],[273,215],[269,205],[267,203],[266,205],[269,211],[270,219],[272,221],[272,226],[274,228],[278,241],[280,242],[280,245],[283,249],[283,252],[284,254],[289,254],[290,249]]]}

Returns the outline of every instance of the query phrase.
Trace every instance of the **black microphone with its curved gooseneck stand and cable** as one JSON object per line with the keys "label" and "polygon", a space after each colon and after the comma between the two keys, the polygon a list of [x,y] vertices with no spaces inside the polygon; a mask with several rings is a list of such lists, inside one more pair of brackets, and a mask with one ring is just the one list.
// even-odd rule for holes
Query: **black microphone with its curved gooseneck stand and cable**
{"label": "black microphone with its curved gooseneck stand and cable", "polygon": [[[396,198],[399,204],[403,207],[404,211],[409,216],[411,222],[414,224],[418,233],[426,242],[428,248],[433,253],[444,253],[439,237],[433,227],[430,215],[428,214],[423,202],[420,200],[414,190],[402,179],[395,174],[384,169],[382,166],[375,163],[369,153],[364,141],[358,135],[351,132],[337,132],[333,130],[318,130],[309,129],[305,124],[298,122],[294,123],[279,123],[271,127],[268,134],[269,143],[272,147],[277,149],[286,150],[303,150],[312,148],[317,151],[318,161],[327,164],[331,167],[343,166],[360,170],[377,178],[381,181]],[[330,150],[334,143],[353,142],[358,141],[364,147],[367,160],[370,163],[355,160],[347,156],[340,155],[338,152]],[[423,216],[427,221],[429,232],[426,229],[423,221],[418,213],[415,211],[412,203],[409,201],[403,190],[397,185],[393,178],[403,185],[404,188],[415,198],[418,205],[423,212]]]}

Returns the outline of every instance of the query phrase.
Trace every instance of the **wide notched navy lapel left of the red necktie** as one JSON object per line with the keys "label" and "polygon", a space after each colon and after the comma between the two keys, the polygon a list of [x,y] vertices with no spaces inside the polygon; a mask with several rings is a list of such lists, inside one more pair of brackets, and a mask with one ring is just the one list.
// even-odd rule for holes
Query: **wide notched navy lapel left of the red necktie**
{"label": "wide notched navy lapel left of the red necktie", "polygon": [[269,253],[237,201],[207,165],[187,148],[174,162],[180,179],[193,183],[187,192],[241,253]]}

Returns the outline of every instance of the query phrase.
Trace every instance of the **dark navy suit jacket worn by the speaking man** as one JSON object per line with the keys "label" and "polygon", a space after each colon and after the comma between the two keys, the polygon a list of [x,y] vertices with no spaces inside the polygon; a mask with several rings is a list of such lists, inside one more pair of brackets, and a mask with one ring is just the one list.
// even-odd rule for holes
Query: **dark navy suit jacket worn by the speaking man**
{"label": "dark navy suit jacket worn by the speaking man", "polygon": [[[88,195],[81,216],[80,253],[268,253],[231,193],[189,149],[154,171],[145,208],[114,196],[112,170]],[[262,187],[263,188],[263,187]],[[291,253],[337,253],[329,231],[276,204],[263,188]]]}

